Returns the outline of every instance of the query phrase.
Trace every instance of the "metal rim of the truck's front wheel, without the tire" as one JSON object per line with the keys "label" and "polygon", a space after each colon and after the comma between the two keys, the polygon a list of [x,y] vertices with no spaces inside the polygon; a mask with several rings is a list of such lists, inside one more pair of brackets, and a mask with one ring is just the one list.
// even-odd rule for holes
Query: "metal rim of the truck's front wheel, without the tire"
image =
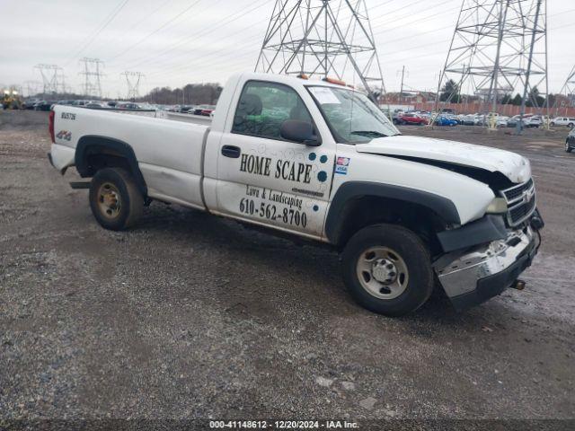
{"label": "metal rim of the truck's front wheel, without the tire", "polygon": [[409,283],[405,261],[388,247],[371,247],[361,253],[356,269],[361,286],[378,299],[402,295]]}

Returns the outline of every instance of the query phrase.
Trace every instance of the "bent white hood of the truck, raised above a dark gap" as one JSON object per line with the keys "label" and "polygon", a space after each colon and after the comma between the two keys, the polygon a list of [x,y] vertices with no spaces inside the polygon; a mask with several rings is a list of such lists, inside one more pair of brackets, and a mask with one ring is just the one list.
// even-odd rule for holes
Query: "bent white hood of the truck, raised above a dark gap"
{"label": "bent white hood of the truck, raised above a dark gap", "polygon": [[356,145],[356,151],[471,166],[489,172],[500,172],[515,183],[525,182],[531,178],[531,166],[525,157],[489,146],[397,135],[380,137],[368,144]]}

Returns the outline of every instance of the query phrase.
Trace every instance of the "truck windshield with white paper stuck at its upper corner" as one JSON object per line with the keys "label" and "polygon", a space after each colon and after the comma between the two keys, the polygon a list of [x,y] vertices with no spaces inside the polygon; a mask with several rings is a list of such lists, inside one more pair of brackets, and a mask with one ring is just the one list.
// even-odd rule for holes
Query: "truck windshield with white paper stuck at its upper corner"
{"label": "truck windshield with white paper stuck at its upper corner", "polygon": [[338,142],[365,144],[376,137],[399,135],[399,130],[361,92],[346,88],[308,86]]}

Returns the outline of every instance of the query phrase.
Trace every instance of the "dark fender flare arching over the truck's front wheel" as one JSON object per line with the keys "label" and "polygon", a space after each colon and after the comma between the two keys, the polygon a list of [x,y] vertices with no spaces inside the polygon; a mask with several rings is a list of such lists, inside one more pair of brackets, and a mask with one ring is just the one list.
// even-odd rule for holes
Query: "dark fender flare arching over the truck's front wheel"
{"label": "dark fender flare arching over the truck's front wheel", "polygon": [[456,205],[442,196],[407,187],[367,181],[350,181],[341,185],[332,198],[325,219],[325,235],[333,244],[340,242],[344,220],[341,218],[348,203],[357,198],[377,197],[401,200],[427,207],[447,224],[461,224]]}

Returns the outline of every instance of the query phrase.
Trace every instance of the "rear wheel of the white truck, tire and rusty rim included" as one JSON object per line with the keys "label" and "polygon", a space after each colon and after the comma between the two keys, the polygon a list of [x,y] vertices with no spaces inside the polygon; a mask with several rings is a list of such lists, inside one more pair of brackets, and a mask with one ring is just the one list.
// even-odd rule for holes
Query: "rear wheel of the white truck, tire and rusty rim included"
{"label": "rear wheel of the white truck, tire and rusty rim included", "polygon": [[96,172],[90,185],[90,207],[105,229],[122,231],[136,224],[144,211],[144,197],[130,173],[121,168]]}

